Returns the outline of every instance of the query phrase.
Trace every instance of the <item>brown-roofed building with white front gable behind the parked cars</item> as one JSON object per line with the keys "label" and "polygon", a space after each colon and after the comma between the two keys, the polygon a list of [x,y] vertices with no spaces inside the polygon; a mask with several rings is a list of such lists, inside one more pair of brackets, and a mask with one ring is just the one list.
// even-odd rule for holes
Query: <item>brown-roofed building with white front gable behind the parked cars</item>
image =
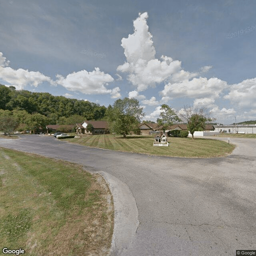
{"label": "brown-roofed building with white front gable behind the parked cars", "polygon": [[[86,130],[88,124],[93,126],[93,131],[90,132]],[[107,121],[83,121],[81,124],[76,124],[76,133],[77,134],[107,134],[108,130],[108,122]]]}

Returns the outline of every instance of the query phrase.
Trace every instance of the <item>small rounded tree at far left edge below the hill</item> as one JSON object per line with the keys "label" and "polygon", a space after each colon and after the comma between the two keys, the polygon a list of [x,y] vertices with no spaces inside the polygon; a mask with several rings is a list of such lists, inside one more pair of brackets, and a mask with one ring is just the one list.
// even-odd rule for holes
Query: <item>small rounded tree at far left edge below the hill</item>
{"label": "small rounded tree at far left edge below the hill", "polygon": [[13,133],[14,129],[18,126],[18,118],[12,115],[9,110],[1,111],[0,113],[0,130],[7,134]]}

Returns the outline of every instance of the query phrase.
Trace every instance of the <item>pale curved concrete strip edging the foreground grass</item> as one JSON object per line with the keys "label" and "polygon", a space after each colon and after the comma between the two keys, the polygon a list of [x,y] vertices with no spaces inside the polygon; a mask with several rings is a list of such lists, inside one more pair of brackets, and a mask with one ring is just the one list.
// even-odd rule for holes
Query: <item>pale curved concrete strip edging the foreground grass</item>
{"label": "pale curved concrete strip edging the foreground grass", "polygon": [[120,255],[135,237],[138,228],[138,208],[129,187],[115,176],[100,171],[114,200],[114,232],[111,243],[111,255]]}

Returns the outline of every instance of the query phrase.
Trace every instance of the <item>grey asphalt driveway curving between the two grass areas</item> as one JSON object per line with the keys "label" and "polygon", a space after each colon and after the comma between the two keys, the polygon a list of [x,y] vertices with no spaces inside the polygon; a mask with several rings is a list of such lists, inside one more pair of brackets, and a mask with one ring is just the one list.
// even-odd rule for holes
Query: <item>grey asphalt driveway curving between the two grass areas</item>
{"label": "grey asphalt driveway curving between the two grass areas", "polygon": [[114,255],[235,256],[256,250],[256,140],[231,142],[237,147],[230,156],[207,159],[114,152],[38,135],[2,139],[0,146],[77,162],[112,179],[112,189],[123,186],[114,196],[131,223],[122,226],[119,218],[128,235],[116,233]]}

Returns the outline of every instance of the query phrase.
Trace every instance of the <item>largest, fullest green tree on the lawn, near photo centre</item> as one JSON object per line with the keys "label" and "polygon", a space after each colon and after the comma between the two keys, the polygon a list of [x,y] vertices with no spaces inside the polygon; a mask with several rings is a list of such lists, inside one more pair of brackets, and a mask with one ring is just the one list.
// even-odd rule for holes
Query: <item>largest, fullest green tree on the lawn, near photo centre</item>
{"label": "largest, fullest green tree on the lawn, near photo centre", "polygon": [[141,118],[145,115],[140,102],[135,98],[118,99],[113,107],[108,106],[107,118],[110,132],[126,137],[131,132],[136,133]]}

